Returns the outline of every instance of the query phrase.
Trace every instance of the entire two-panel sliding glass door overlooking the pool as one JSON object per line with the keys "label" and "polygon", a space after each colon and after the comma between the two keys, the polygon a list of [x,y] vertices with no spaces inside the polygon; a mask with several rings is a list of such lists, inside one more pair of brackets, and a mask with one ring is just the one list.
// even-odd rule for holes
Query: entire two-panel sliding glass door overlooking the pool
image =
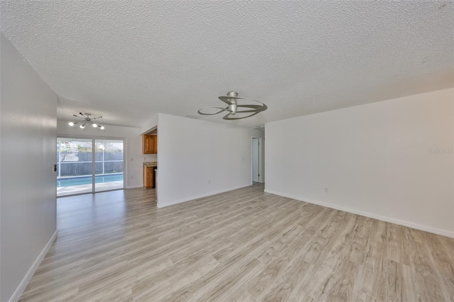
{"label": "entire two-panel sliding glass door overlooking the pool", "polygon": [[57,196],[123,189],[123,140],[57,138]]}

